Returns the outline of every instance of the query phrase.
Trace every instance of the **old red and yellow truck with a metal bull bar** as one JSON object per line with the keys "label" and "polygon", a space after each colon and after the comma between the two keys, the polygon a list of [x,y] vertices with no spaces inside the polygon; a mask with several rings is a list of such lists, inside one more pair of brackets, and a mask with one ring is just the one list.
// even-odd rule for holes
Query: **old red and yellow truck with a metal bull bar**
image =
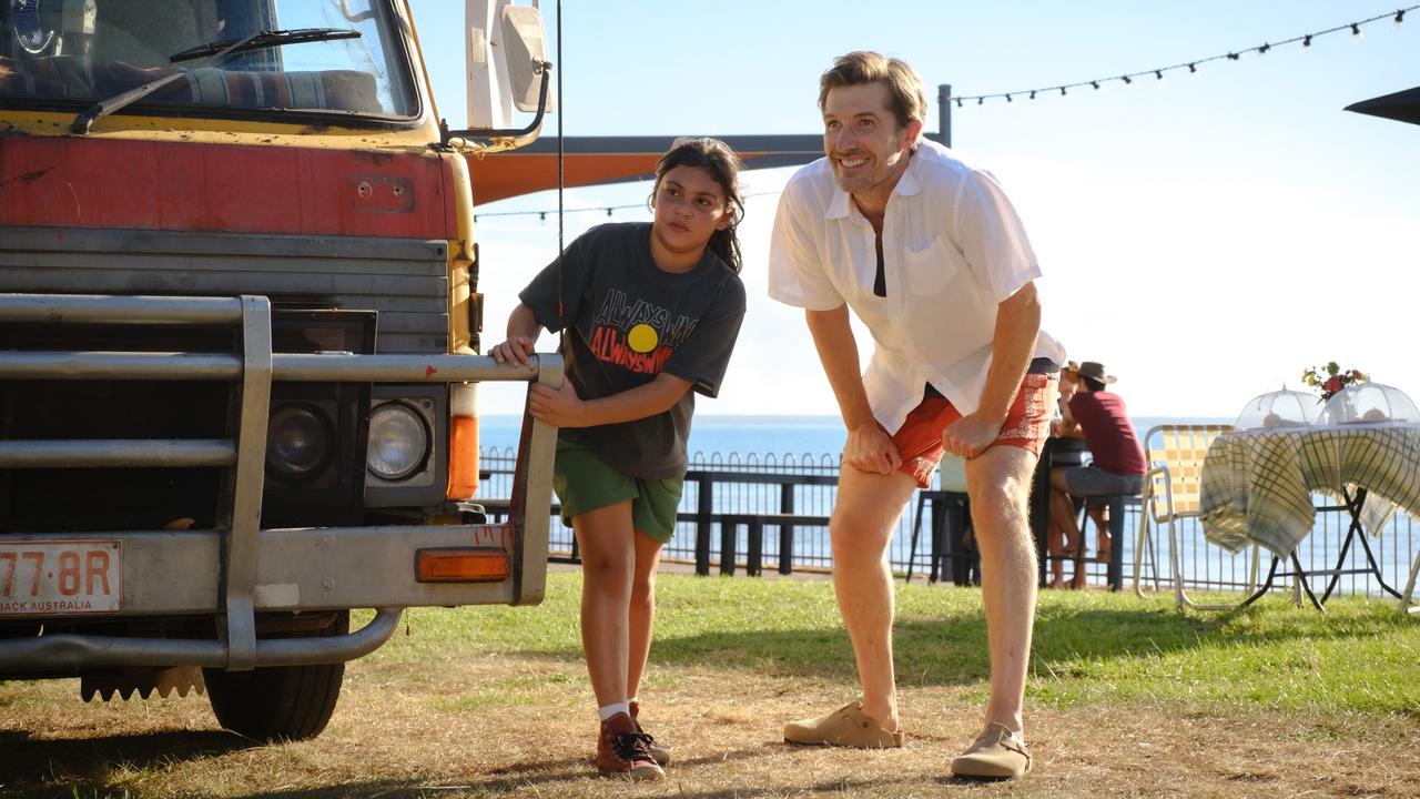
{"label": "old red and yellow truck with a metal bull bar", "polygon": [[555,429],[493,523],[476,392],[562,367],[479,354],[470,162],[551,64],[464,14],[450,129],[406,0],[0,0],[0,680],[302,739],[405,608],[541,600]]}

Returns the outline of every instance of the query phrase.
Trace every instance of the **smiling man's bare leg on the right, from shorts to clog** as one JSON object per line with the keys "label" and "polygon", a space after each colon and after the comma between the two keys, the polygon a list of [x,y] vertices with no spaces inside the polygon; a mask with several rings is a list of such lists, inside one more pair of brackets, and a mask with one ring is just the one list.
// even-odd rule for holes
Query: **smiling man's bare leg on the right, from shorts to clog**
{"label": "smiling man's bare leg on the right, from shorts to clog", "polygon": [[1024,728],[1025,675],[1035,626],[1037,562],[1027,502],[1037,456],[993,446],[967,461],[967,495],[981,552],[981,604],[991,650],[991,701],[985,721],[1015,734]]}

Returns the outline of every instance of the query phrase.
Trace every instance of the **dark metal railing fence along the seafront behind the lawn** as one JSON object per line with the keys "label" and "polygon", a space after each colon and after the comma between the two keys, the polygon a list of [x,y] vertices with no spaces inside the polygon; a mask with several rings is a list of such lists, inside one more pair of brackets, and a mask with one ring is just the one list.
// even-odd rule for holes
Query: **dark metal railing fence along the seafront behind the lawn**
{"label": "dark metal railing fence along the seafront behind the lawn", "polygon": [[[479,489],[481,498],[506,498],[511,486],[511,472],[515,461],[513,449],[483,451],[483,469],[486,478]],[[792,455],[777,458],[774,455],[744,455],[731,452],[728,455],[696,455],[690,459],[686,473],[686,489],[680,498],[680,513],[676,525],[676,536],[663,550],[663,559],[672,562],[696,563],[697,542],[709,552],[701,552],[701,559],[717,570],[727,572],[723,563],[726,545],[733,546],[734,559],[731,566],[736,572],[748,566],[750,535],[744,525],[728,529],[726,536],[726,522],[734,522],[740,516],[758,516],[768,523],[764,529],[763,560],[764,567],[788,570],[828,570],[832,566],[832,549],[828,539],[828,516],[832,513],[836,483],[838,456]],[[933,476],[936,490],[937,476]],[[892,569],[899,574],[927,574],[930,570],[930,530],[933,529],[932,503],[920,502],[923,492],[916,492],[907,503],[907,509],[897,520],[888,549],[888,559]],[[1325,505],[1325,498],[1318,498],[1318,505]],[[1139,535],[1140,505],[1137,499],[1125,503],[1123,542],[1123,574],[1125,587],[1132,581],[1135,549]],[[775,518],[792,515],[791,535],[792,553],[788,563],[781,563],[780,523]],[[920,519],[919,519],[920,516]],[[728,518],[728,519],[727,519]],[[814,523],[819,522],[819,523]],[[1345,512],[1318,512],[1314,535],[1308,536],[1298,549],[1298,559],[1306,572],[1335,569],[1339,557],[1339,547],[1346,533],[1349,516]],[[920,535],[913,547],[913,527],[920,526]],[[1414,522],[1397,513],[1379,532],[1369,537],[1372,550],[1380,566],[1384,580],[1397,590],[1403,590],[1410,574],[1410,566],[1420,550],[1420,540],[1416,537]],[[1251,552],[1244,550],[1230,554],[1203,537],[1203,527],[1197,519],[1179,522],[1179,559],[1184,573],[1184,584],[1189,590],[1230,590],[1238,591],[1250,584]],[[707,533],[707,535],[706,535]],[[1093,550],[1095,527],[1089,525],[1089,549]],[[551,519],[550,546],[554,559],[575,559],[575,546],[571,527],[567,527],[554,516]],[[787,542],[785,542],[787,543]],[[1089,554],[1093,554],[1091,552]],[[1140,583],[1149,589],[1156,584],[1164,590],[1170,589],[1170,560],[1167,529],[1149,527],[1149,539],[1145,547],[1143,564],[1140,569]],[[1271,554],[1262,550],[1260,559],[1261,574],[1267,576]],[[1105,583],[1105,563],[1086,559],[1083,564],[1091,584]],[[1365,552],[1359,545],[1352,545],[1346,556],[1343,569],[1365,567]],[[1069,577],[1072,564],[1066,563],[1065,574]],[[951,580],[951,569],[943,566],[946,580]],[[1319,579],[1314,579],[1314,586]],[[1295,587],[1292,579],[1278,579],[1274,584],[1277,591],[1291,593]],[[1346,574],[1338,583],[1338,593],[1358,596],[1380,596],[1380,586],[1373,576]]]}

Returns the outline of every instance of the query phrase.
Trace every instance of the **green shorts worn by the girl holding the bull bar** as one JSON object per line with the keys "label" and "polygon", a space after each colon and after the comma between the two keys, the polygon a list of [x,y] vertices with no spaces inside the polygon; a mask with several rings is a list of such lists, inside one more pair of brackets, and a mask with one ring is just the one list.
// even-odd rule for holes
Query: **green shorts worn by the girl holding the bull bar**
{"label": "green shorts worn by the girl holding the bull bar", "polygon": [[676,533],[676,509],[684,478],[642,481],[606,465],[595,452],[571,441],[557,439],[552,490],[562,503],[562,523],[588,510],[630,500],[635,527],[660,543]]}

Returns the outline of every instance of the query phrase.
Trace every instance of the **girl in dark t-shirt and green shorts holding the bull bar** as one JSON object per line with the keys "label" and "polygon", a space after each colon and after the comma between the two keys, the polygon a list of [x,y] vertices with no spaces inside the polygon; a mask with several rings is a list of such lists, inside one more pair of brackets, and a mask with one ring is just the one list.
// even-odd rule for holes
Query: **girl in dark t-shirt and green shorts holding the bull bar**
{"label": "girl in dark t-shirt and green shorts holding the bull bar", "polygon": [[670,752],[638,722],[655,574],[676,526],[694,392],[714,397],[744,318],[740,159],[676,139],[656,163],[646,223],[602,225],[518,294],[501,364],[561,331],[567,381],[534,385],[532,415],[562,428],[552,486],[582,554],[582,648],[601,717],[596,768],[660,779]]}

